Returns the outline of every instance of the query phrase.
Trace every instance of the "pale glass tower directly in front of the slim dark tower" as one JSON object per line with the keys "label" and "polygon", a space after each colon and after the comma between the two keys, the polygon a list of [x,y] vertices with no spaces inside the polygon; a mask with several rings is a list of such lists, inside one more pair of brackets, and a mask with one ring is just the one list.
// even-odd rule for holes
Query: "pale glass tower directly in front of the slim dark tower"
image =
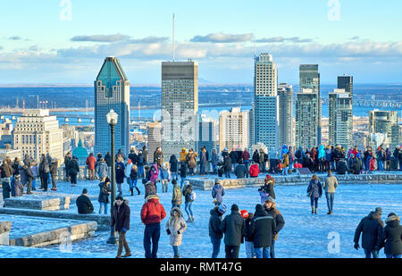
{"label": "pale glass tower directly in front of the slim dark tower", "polygon": [[334,89],[329,97],[329,143],[345,148],[352,146],[353,109],[352,97],[345,89]]}

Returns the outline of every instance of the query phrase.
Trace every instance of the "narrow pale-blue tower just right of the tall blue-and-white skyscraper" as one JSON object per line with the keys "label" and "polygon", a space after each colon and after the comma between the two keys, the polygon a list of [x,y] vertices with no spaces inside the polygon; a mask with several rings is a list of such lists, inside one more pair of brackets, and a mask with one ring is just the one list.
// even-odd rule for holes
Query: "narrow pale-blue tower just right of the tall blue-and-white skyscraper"
{"label": "narrow pale-blue tower just right of the tall blue-and-white skyscraper", "polygon": [[293,88],[281,83],[278,88],[279,97],[279,143],[294,146],[293,138]]}

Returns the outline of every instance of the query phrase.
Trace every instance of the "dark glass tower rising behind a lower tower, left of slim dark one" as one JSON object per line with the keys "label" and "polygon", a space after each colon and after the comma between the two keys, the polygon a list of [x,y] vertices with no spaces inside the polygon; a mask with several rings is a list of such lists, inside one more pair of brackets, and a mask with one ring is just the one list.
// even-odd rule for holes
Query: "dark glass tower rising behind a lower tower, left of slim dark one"
{"label": "dark glass tower rising behind a lower tower, left of slim dark one", "polygon": [[320,73],[318,72],[318,64],[300,64],[299,66],[299,92],[304,89],[312,89],[317,94],[315,99],[317,105],[317,145],[321,144],[321,95],[320,95]]}

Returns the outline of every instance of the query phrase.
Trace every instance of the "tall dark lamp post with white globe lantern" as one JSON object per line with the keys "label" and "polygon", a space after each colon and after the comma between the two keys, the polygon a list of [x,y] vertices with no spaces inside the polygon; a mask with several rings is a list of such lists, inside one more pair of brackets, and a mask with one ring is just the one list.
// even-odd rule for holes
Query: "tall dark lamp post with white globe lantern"
{"label": "tall dark lamp post with white globe lantern", "polygon": [[[110,215],[113,215],[113,203],[114,199],[116,198],[116,184],[115,184],[115,168],[114,168],[114,126],[117,124],[117,118],[118,114],[111,109],[109,113],[106,115],[106,120],[107,123],[110,126],[110,134],[111,134],[111,142],[112,142],[112,149],[111,149],[111,155],[112,155],[112,170],[111,170],[111,195],[110,195]],[[106,241],[108,244],[113,244],[115,245],[117,243],[116,239],[116,226],[114,224],[113,230],[110,230],[110,237]]]}

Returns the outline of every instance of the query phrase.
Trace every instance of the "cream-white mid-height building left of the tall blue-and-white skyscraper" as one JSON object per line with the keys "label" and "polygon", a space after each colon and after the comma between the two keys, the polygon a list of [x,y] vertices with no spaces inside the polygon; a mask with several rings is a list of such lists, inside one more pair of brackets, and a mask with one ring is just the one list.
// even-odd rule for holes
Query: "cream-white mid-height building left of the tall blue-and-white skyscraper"
{"label": "cream-white mid-height building left of the tall blue-and-white skyscraper", "polygon": [[233,107],[230,111],[219,114],[219,150],[227,148],[229,151],[249,147],[249,111],[242,112],[240,107]]}

